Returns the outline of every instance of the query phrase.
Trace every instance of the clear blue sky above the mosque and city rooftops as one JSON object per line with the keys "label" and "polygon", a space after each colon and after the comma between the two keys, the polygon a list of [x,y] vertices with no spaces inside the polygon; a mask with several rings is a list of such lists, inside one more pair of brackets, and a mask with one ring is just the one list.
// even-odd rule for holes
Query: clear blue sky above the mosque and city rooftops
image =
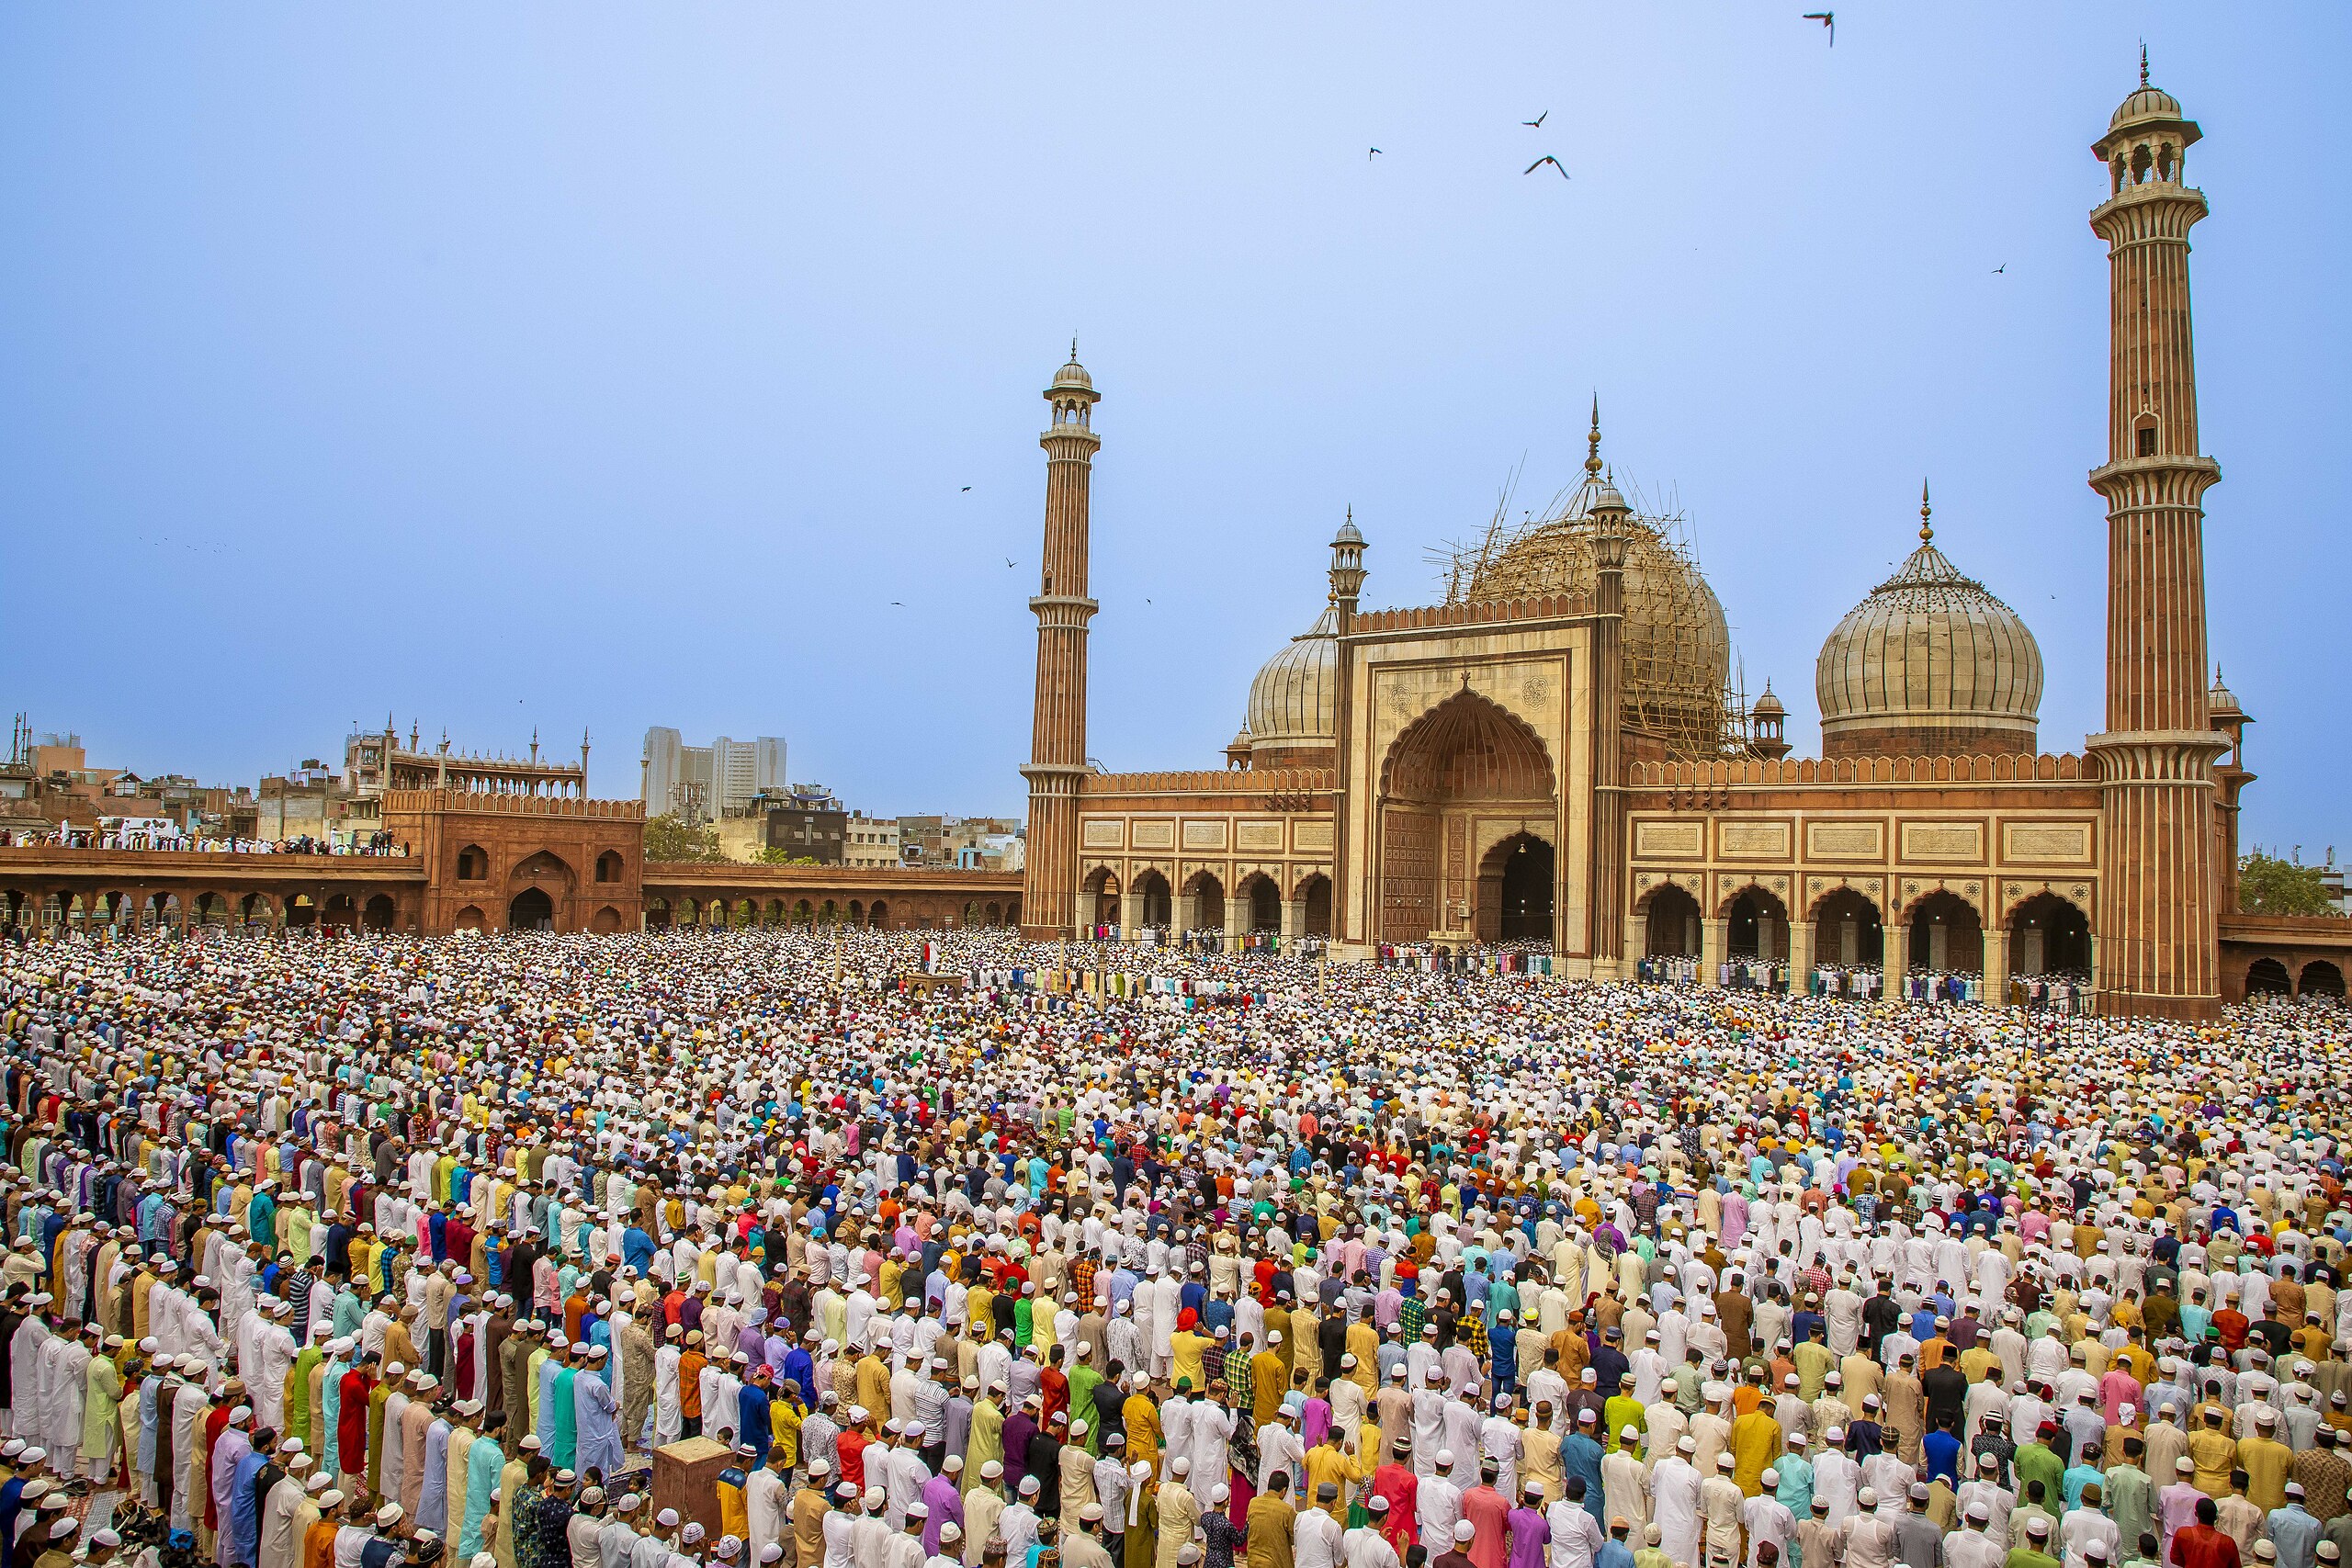
{"label": "clear blue sky above the mosque and city rooftops", "polygon": [[1075,331],[1115,769],[1218,762],[1343,508],[1367,602],[1435,599],[1428,548],[1522,463],[1569,482],[1595,390],[1799,750],[1922,475],[2042,642],[2044,748],[2079,748],[2089,143],[2145,35],[2206,129],[2246,837],[2352,853],[2317,703],[2352,9],[1839,5],[1835,47],[1802,9],[9,7],[0,698],[212,780],[390,710],[473,748],[590,726],[609,795],[677,724],[783,733],[873,811],[1016,811]]}

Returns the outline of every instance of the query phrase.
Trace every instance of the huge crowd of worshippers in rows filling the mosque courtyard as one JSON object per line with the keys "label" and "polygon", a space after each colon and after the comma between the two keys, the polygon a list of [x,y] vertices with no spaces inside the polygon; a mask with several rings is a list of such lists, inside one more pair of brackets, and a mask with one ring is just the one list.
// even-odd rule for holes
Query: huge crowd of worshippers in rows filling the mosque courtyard
{"label": "huge crowd of worshippers in rows filling the mosque courtyard", "polygon": [[158,933],[0,1032],[0,1568],[2352,1549],[2333,1004]]}

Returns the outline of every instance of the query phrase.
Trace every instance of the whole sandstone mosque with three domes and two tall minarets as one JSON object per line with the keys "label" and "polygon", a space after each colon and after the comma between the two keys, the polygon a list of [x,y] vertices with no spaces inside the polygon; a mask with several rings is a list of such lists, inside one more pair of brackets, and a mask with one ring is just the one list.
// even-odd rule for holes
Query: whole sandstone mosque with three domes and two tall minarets
{"label": "whole sandstone mosque with three domes and two tall minarets", "polygon": [[[1830,630],[1820,757],[1771,686],[1731,686],[1715,590],[1668,520],[1611,482],[1595,409],[1583,484],[1458,557],[1442,604],[1359,609],[1367,538],[1331,538],[1329,604],[1249,686],[1223,766],[1087,757],[1089,475],[1098,390],[1047,388],[1047,515],[1023,924],[1534,943],[1555,973],[1686,954],[2084,973],[2103,1011],[2211,1018],[2244,994],[2232,936],[2246,712],[2209,682],[2185,179],[2199,129],[2147,85],[2093,143],[2107,193],[2107,710],[2039,738],[2042,654],[1992,588],[1919,545]],[[1994,574],[1997,576],[1997,574]],[[1860,585],[1858,585],[1860,588]],[[2232,952],[2241,947],[2241,952]],[[2340,983],[2340,980],[2338,980]]]}

